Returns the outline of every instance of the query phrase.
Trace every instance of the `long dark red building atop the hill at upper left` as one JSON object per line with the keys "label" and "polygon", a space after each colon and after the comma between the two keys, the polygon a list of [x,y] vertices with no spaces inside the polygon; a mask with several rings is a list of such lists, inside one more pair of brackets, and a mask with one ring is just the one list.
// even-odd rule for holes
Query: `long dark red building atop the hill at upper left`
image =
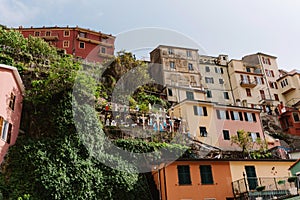
{"label": "long dark red building atop the hill at upper left", "polygon": [[18,29],[24,37],[43,38],[49,44],[65,53],[88,61],[103,62],[113,57],[115,37],[111,34],[80,27],[39,27]]}

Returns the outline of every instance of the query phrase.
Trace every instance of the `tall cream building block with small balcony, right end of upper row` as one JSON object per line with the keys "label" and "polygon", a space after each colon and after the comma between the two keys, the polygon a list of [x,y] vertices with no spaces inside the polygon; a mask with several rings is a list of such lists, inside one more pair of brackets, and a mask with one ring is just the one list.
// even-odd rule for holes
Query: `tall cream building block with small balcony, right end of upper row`
{"label": "tall cream building block with small balcony, right end of upper row", "polygon": [[231,60],[228,72],[236,105],[269,112],[284,101],[276,82],[276,57],[263,53],[247,55],[242,60]]}

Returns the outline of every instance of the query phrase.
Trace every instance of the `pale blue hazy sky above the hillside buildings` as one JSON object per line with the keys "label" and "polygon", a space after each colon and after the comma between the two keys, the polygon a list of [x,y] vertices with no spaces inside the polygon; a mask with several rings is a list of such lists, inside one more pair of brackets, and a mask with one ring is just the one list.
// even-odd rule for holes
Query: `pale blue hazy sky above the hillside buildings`
{"label": "pale blue hazy sky above the hillside buildings", "polygon": [[300,68],[297,0],[0,0],[0,24],[78,25],[115,35],[116,42],[126,38],[125,50],[139,41],[134,48],[148,52],[187,39],[210,56],[262,52],[276,56],[280,69]]}

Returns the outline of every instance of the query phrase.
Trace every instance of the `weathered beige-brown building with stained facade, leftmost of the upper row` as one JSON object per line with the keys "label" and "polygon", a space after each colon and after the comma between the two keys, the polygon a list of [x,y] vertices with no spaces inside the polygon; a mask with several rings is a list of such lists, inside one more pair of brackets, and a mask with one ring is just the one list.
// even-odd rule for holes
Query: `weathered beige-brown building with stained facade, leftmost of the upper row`
{"label": "weathered beige-brown building with stained facade, leftmost of the upper row", "polygon": [[205,90],[198,67],[198,50],[160,45],[150,53],[151,75],[160,79],[170,102],[203,99]]}

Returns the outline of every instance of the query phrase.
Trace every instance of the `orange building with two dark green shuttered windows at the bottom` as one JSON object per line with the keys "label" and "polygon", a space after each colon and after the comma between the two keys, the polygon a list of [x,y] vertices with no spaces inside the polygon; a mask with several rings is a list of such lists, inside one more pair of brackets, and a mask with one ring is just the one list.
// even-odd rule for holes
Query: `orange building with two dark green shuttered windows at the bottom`
{"label": "orange building with two dark green shuttered windows at the bottom", "polygon": [[228,161],[175,161],[153,177],[162,200],[233,199]]}

